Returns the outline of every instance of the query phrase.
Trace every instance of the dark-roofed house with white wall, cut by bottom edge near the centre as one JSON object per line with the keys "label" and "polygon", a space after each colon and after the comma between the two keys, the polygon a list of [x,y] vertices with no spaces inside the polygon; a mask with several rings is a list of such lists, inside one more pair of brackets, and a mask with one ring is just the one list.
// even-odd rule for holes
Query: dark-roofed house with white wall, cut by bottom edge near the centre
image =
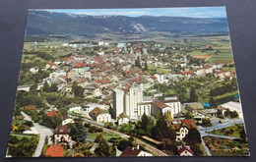
{"label": "dark-roofed house with white wall, cut by bottom edge near the centre", "polygon": [[139,149],[139,145],[137,146],[137,148],[128,146],[126,147],[126,149],[121,153],[120,155],[121,157],[125,157],[125,156],[153,156],[153,154],[143,151],[141,149]]}

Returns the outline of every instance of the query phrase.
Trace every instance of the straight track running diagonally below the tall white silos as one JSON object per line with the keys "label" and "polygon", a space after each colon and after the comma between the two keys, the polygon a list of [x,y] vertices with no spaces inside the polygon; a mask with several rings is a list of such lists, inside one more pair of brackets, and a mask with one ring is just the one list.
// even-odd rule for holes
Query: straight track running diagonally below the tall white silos
{"label": "straight track running diagonally below the tall white silos", "polygon": [[[71,117],[71,118],[76,118],[75,116],[70,116],[70,117]],[[116,131],[113,131],[113,130],[106,129],[106,128],[103,127],[103,124],[96,123],[95,121],[91,121],[91,120],[84,119],[84,118],[83,118],[83,120],[84,120],[85,122],[90,123],[91,125],[95,125],[96,127],[102,128],[103,131],[106,132],[106,133],[119,135],[119,136],[121,136],[121,137],[123,137],[123,138],[129,138],[129,137],[131,137],[130,135],[126,135],[126,134],[122,134],[122,133],[119,133],[119,132],[116,132]],[[152,145],[150,145],[150,144],[148,144],[148,143],[146,143],[146,142],[144,142],[144,141],[142,141],[142,140],[140,140],[140,139],[138,139],[138,138],[136,138],[136,142],[137,142],[137,144],[139,144],[139,145],[141,145],[141,146],[144,146],[146,149],[152,151],[153,153],[155,153],[155,154],[157,154],[157,155],[159,155],[159,156],[169,156],[169,155],[167,155],[166,153],[164,153],[164,152],[162,152],[161,150],[159,150],[158,148],[155,148],[154,146],[152,146]]]}

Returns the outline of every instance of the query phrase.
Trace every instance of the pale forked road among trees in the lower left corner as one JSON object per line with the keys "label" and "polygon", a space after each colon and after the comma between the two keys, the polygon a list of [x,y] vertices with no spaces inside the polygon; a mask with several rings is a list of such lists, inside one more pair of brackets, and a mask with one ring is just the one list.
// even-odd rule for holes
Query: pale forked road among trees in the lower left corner
{"label": "pale forked road among trees in the lower left corner", "polygon": [[26,114],[25,112],[21,112],[21,114],[24,116],[24,120],[27,120],[27,121],[31,121],[34,128],[37,130],[37,132],[40,134],[39,135],[39,141],[38,141],[38,144],[35,148],[35,151],[33,153],[33,157],[39,157],[40,154],[41,154],[41,150],[42,150],[42,147],[43,147],[43,144],[45,142],[45,138],[48,137],[48,144],[52,144],[52,141],[50,139],[50,136],[53,135],[53,132],[51,129],[49,128],[46,128],[44,126],[41,126],[39,124],[36,124],[32,121],[32,118]]}

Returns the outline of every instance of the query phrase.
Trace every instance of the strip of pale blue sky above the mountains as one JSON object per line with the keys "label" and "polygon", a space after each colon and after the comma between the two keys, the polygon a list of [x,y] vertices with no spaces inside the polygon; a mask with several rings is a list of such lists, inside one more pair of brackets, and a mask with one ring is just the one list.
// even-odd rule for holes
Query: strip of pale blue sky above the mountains
{"label": "strip of pale blue sky above the mountains", "polygon": [[138,9],[40,9],[49,12],[128,17],[169,16],[191,18],[226,18],[225,7],[186,7],[186,8],[138,8]]}

